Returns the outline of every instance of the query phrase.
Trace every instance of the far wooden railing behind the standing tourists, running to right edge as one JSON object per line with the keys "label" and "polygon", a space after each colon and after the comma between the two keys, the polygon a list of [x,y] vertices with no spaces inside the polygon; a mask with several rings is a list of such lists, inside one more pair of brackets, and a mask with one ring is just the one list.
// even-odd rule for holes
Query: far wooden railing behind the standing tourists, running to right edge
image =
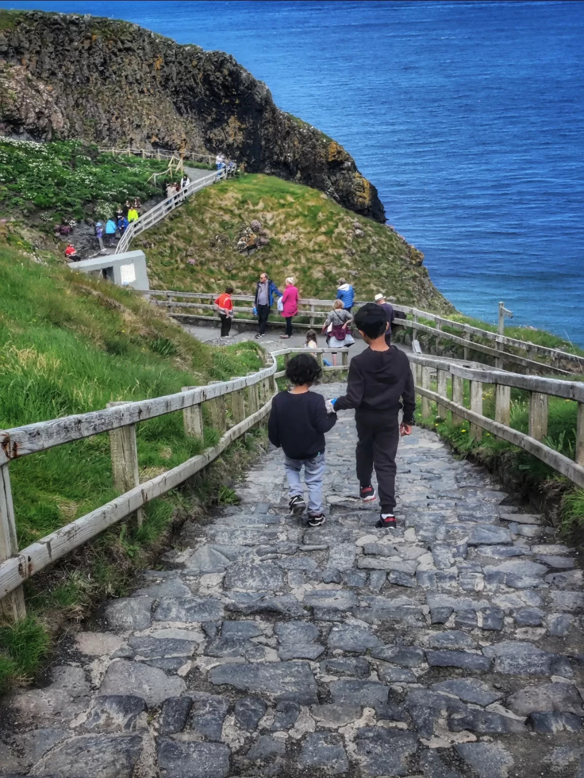
{"label": "far wooden railing behind the standing tourists, running to right edge", "polygon": [[[175,290],[162,290],[162,289],[150,289],[150,300],[160,306],[168,308],[169,312],[176,318],[180,319],[182,316],[193,315],[186,314],[185,311],[201,310],[204,312],[198,315],[199,318],[213,318],[213,300],[216,298],[214,293],[205,292],[178,292]],[[163,299],[157,299],[163,298]],[[252,295],[232,295],[232,299],[237,302],[253,303],[254,297]],[[199,301],[199,302],[196,302]],[[304,299],[298,301],[298,317],[308,318],[307,324],[299,323],[298,327],[320,327],[325,320],[326,315],[332,308],[334,300],[311,300]],[[363,302],[355,302],[354,306],[359,307],[363,305]],[[400,324],[403,327],[409,328],[412,331],[412,340],[417,338],[418,332],[425,332],[432,335],[436,341],[449,341],[455,343],[463,348],[464,359],[470,358],[470,352],[480,352],[487,356],[491,356],[495,360],[495,365],[498,368],[503,367],[503,363],[511,363],[512,365],[519,365],[526,370],[542,370],[542,368],[549,368],[554,373],[560,375],[570,375],[571,373],[584,373],[584,357],[577,354],[571,354],[569,352],[562,351],[561,349],[549,349],[547,346],[538,345],[537,343],[531,343],[529,341],[522,341],[519,338],[508,338],[506,335],[498,335],[495,332],[489,330],[483,330],[477,327],[471,327],[470,324],[461,324],[458,321],[447,319],[438,314],[431,314],[428,311],[419,310],[410,306],[399,305],[392,303],[394,310],[398,310],[406,316],[411,318],[396,319],[396,324]],[[248,306],[234,306],[235,314],[252,314],[252,305]],[[181,311],[183,313],[181,314]],[[206,312],[209,311],[209,315]],[[424,324],[420,319],[426,319],[428,321],[434,321],[436,325],[430,327]],[[239,318],[236,321],[243,323],[252,323],[254,320],[250,318]],[[276,322],[284,324],[282,317],[278,317]],[[445,331],[443,328],[448,327],[450,329],[460,331],[463,333],[463,337],[459,335],[453,335],[452,332]],[[477,342],[472,338],[482,338],[494,343],[494,348],[484,343]],[[520,356],[512,352],[505,351],[505,346],[513,349],[520,349],[527,352],[528,356]],[[548,362],[542,363],[535,359],[529,359],[529,355],[538,355],[547,359]],[[570,370],[566,370],[559,366],[559,363],[564,363],[570,367]]]}

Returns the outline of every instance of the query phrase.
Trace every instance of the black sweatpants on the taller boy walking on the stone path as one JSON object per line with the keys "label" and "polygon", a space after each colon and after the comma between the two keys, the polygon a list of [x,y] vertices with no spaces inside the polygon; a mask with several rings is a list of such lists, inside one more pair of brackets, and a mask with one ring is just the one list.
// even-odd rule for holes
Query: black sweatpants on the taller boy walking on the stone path
{"label": "black sweatpants on the taller boy walking on the stone path", "polygon": [[382,513],[396,507],[396,453],[399,443],[399,418],[379,411],[355,413],[357,422],[357,478],[361,486],[371,484],[375,468]]}

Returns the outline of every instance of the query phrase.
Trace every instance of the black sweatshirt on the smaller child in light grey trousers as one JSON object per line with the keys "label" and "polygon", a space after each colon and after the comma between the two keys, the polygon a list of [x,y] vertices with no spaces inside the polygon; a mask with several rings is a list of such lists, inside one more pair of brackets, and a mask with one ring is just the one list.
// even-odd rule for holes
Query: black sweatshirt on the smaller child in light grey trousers
{"label": "black sweatshirt on the smaller child in light grey trousers", "polygon": [[326,412],[322,394],[281,391],[272,401],[268,437],[290,459],[312,459],[325,450],[325,433],[335,422],[336,413]]}

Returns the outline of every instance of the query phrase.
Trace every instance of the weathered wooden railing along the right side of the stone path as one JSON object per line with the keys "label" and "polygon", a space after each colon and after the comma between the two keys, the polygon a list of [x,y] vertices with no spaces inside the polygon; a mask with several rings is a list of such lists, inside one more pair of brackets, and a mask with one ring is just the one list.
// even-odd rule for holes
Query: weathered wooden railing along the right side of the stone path
{"label": "weathered wooden railing along the right side of the stone path", "polygon": [[[505,373],[499,370],[473,369],[461,366],[449,359],[408,354],[416,384],[416,393],[422,398],[422,417],[431,415],[430,401],[438,405],[438,416],[447,418],[452,413],[452,422],[470,422],[470,434],[480,439],[483,430],[507,440],[554,470],[565,475],[578,486],[584,486],[584,384],[578,381],[556,380],[520,373]],[[436,391],[431,391],[431,371],[436,371]],[[451,384],[448,397],[449,379]],[[464,380],[470,381],[470,408],[464,405]],[[495,387],[494,419],[483,414],[483,387]],[[529,434],[521,433],[511,426],[511,389],[529,391]],[[574,460],[560,454],[547,445],[548,398],[558,397],[578,403],[577,429]]]}

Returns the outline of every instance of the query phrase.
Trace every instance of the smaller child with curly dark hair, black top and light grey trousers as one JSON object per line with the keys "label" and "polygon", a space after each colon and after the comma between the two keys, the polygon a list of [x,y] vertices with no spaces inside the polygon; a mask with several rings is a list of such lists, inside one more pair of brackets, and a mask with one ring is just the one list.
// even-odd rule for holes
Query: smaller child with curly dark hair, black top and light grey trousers
{"label": "smaller child with curly dark hair, black top and light grey trousers", "polygon": [[322,475],[325,472],[325,433],[335,426],[336,413],[322,394],[311,392],[310,387],[322,375],[322,368],[314,356],[299,354],[290,359],[286,377],[294,388],[281,391],[272,401],[269,415],[268,436],[277,448],[284,452],[284,467],[290,487],[290,516],[304,513],[304,482],[308,487],[308,518],[311,527],[325,523],[322,512]]}

